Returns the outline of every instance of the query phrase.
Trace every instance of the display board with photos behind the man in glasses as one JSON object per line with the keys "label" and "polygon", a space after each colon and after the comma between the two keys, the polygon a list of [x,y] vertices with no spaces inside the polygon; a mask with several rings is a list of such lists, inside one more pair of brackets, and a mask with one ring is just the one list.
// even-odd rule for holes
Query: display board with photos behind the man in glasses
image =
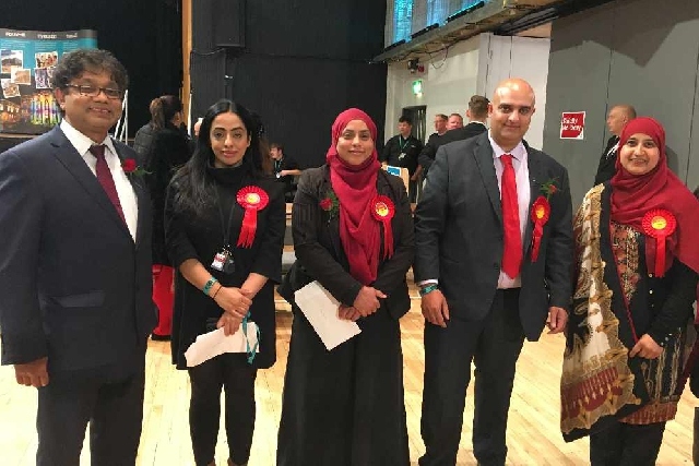
{"label": "display board with photos behind the man in glasses", "polygon": [[96,48],[91,29],[40,32],[0,28],[0,133],[42,134],[60,122],[51,92],[63,53]]}

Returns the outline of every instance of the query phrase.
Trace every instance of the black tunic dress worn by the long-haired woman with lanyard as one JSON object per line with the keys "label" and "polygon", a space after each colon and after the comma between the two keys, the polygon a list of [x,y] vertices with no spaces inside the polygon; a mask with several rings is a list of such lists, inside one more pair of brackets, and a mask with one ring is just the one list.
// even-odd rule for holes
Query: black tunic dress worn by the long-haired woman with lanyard
{"label": "black tunic dress worn by the long-haired woman with lanyard", "polygon": [[[286,228],[286,208],[279,183],[271,177],[256,178],[244,163],[236,168],[209,168],[218,201],[202,206],[197,214],[180,212],[175,207],[178,180],[170,183],[165,204],[166,246],[173,265],[178,267],[188,259],[197,259],[223,286],[239,287],[250,273],[269,278],[252,300],[251,321],[260,327],[260,353],[254,358],[256,368],[269,368],[275,359],[274,283],[282,278],[282,248]],[[266,192],[270,202],[257,213],[257,232],[251,248],[238,248],[238,235],[245,210],[236,201],[244,187],[258,187]],[[220,203],[220,205],[218,205]],[[220,210],[221,206],[221,210]],[[233,208],[229,244],[235,271],[225,274],[211,268],[214,255],[224,247],[224,227]],[[173,362],[178,369],[187,368],[185,351],[197,336],[206,332],[206,320],[221,316],[223,310],[209,296],[177,274],[175,308],[173,315]]]}

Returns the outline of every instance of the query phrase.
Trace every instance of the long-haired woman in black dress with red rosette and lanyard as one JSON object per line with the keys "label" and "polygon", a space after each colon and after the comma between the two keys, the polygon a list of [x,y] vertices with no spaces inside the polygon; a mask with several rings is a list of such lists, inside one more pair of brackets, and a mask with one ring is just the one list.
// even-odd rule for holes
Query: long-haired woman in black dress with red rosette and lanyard
{"label": "long-haired woman in black dress with red rosette and lanyard", "polygon": [[[191,381],[190,433],[197,465],[214,465],[221,389],[228,465],[245,465],[254,428],[254,379],[275,360],[274,283],[282,271],[284,193],[262,171],[258,124],[242,106],[220,100],[206,112],[192,158],[170,182],[166,243],[178,270],[173,360]],[[203,291],[203,292],[202,292]],[[244,319],[259,327],[259,353],[224,354],[188,368],[198,335]]]}

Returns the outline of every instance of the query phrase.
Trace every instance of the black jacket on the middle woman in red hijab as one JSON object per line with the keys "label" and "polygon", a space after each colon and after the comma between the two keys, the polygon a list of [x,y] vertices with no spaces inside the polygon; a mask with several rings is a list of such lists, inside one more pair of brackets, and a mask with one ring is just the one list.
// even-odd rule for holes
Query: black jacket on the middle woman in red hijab
{"label": "black jacket on the middle woman in red hijab", "polygon": [[[340,242],[340,219],[335,215],[329,219],[319,203],[330,191],[330,170],[327,165],[304,170],[294,200],[292,224],[294,231],[294,251],[303,272],[296,276],[296,283],[286,283],[288,291],[317,279],[332,296],[344,304],[352,306],[362,284],[350,275],[350,264]],[[372,286],[389,297],[381,300],[391,316],[400,319],[410,308],[410,296],[405,274],[413,264],[415,250],[411,205],[405,186],[399,177],[379,170],[377,179],[379,194],[386,195],[395,205],[395,215],[391,220],[393,231],[393,255],[379,262],[379,272]],[[381,227],[383,238],[383,227]],[[381,248],[383,254],[383,248]],[[381,255],[382,256],[382,255]],[[292,278],[289,276],[289,278]],[[282,296],[289,296],[284,288]],[[285,297],[286,297],[285,296]],[[287,299],[289,299],[287,298]]]}

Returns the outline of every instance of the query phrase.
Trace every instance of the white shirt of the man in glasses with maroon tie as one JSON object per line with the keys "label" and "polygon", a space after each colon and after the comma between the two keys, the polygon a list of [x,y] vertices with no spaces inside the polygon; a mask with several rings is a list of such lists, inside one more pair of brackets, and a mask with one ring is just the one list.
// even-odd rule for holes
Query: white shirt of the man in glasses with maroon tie
{"label": "white shirt of the man in glasses with maroon tie", "polygon": [[123,211],[123,217],[127,220],[129,232],[131,234],[131,238],[135,241],[139,206],[135,193],[133,192],[133,186],[131,186],[131,181],[129,181],[127,174],[125,174],[121,168],[121,160],[117,155],[117,151],[114,148],[111,138],[107,135],[104,141],[95,142],[73,128],[64,118],[61,120],[60,128],[61,131],[63,131],[63,134],[66,134],[66,138],[68,138],[68,141],[70,141],[73,147],[75,147],[75,151],[78,151],[80,156],[83,157],[83,160],[85,160],[85,164],[87,164],[87,167],[92,170],[95,177],[97,176],[97,159],[90,152],[90,147],[99,144],[104,144],[106,146],[105,160],[107,160],[107,166],[109,166],[109,171],[111,171],[111,178],[114,179],[114,184],[117,188],[119,203],[121,204],[121,210]]}

